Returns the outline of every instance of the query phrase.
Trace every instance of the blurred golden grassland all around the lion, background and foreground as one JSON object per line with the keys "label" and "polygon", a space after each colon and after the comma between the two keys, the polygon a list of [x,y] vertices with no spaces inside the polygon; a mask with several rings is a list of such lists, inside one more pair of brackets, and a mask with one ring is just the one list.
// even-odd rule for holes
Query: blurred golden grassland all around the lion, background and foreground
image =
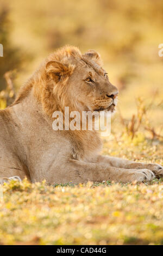
{"label": "blurred golden grassland all around the lion, background and foreground", "polygon": [[[56,48],[95,49],[120,91],[103,154],[163,165],[162,32],[162,0],[0,0],[0,109]],[[54,184],[54,192],[45,183],[10,183],[0,205],[0,243],[162,244],[162,181],[147,188]]]}

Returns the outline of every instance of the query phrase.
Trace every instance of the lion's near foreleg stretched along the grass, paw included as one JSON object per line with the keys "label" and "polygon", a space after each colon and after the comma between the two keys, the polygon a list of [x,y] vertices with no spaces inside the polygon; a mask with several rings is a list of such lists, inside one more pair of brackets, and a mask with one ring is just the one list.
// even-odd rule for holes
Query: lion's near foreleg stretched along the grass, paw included
{"label": "lion's near foreleg stretched along the grass, paw included", "polygon": [[[63,173],[62,173],[63,175]],[[55,176],[57,179],[57,176]],[[147,169],[125,169],[111,167],[106,163],[87,163],[78,160],[70,160],[66,163],[64,179],[73,182],[87,182],[103,180],[114,180],[117,182],[145,181],[154,178],[151,170]],[[54,180],[55,182],[55,180]],[[59,182],[62,182],[59,180]]]}

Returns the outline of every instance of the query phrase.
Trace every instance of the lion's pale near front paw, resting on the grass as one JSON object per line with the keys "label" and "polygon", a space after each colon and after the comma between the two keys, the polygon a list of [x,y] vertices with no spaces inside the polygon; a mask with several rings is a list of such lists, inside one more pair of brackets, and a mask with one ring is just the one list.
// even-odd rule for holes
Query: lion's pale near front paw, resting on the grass
{"label": "lion's pale near front paw, resting on the grass", "polygon": [[135,169],[131,170],[130,179],[131,181],[145,182],[154,179],[155,175],[151,170],[148,169]]}

